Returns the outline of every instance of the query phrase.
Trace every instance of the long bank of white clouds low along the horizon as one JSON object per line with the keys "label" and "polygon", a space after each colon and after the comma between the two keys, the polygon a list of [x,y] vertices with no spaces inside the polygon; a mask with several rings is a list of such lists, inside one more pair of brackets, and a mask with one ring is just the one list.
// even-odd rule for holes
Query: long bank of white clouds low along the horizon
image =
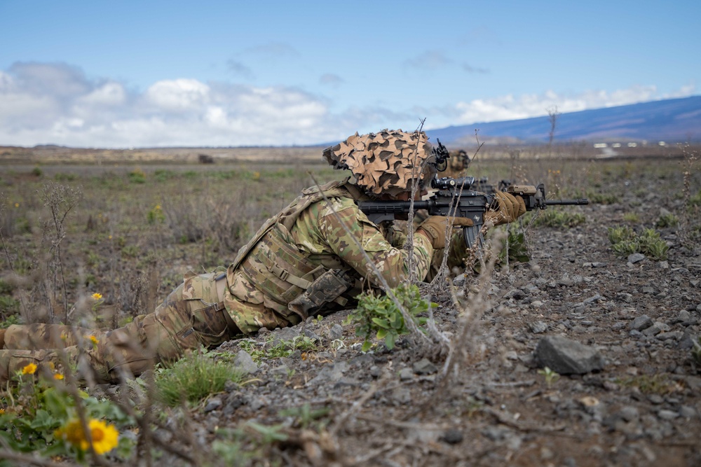
{"label": "long bank of white clouds low along the horizon", "polygon": [[88,79],[66,64],[15,64],[0,71],[0,146],[319,144],[340,141],[356,130],[414,130],[424,117],[428,129],[543,116],[554,106],[565,113],[694,92],[693,84],[666,95],[654,86],[579,95],[551,91],[404,109],[358,102],[332,113],[333,102],[299,88],[177,78],[135,92],[118,81]]}

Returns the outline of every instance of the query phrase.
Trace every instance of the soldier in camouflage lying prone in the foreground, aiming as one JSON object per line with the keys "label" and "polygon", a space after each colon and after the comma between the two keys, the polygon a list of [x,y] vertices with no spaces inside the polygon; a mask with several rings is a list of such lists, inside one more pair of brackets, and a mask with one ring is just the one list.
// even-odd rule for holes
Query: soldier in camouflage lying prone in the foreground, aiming
{"label": "soldier in camouflage lying prone in the foreground, aiming", "polygon": [[[435,155],[423,132],[355,133],[326,148],[324,158],[352,177],[307,188],[268,219],[226,268],[187,273],[156,307],[116,330],[59,324],[9,326],[0,331],[0,382],[29,363],[74,365],[88,382],[118,382],[189,349],[217,347],[260,328],[291,326],[308,316],[353,307],[367,286],[397,286],[410,276],[408,251],[369,221],[356,202],[408,200],[425,193],[435,176]],[[519,196],[501,193],[484,216],[512,222],[526,211]],[[453,225],[470,225],[453,218]],[[426,278],[435,251],[445,246],[448,219],[430,216],[414,235],[414,277]],[[388,235],[388,237],[390,237]]]}

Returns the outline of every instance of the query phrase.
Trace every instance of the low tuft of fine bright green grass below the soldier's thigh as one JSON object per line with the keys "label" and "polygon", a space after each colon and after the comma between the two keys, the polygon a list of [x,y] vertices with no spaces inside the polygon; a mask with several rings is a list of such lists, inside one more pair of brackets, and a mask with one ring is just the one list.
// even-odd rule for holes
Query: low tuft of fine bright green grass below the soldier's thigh
{"label": "low tuft of fine bright green grass below the soldier's thigh", "polygon": [[226,382],[240,384],[243,372],[215,361],[205,352],[181,358],[170,368],[156,370],[156,389],[163,403],[175,407],[183,401],[197,403],[210,394],[224,391]]}

